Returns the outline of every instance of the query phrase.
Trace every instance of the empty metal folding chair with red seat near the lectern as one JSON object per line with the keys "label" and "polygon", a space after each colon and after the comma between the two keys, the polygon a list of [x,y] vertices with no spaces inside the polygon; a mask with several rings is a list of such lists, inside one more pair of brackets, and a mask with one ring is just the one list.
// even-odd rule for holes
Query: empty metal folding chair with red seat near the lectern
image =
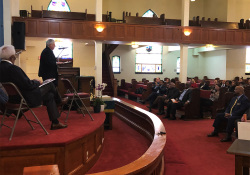
{"label": "empty metal folding chair with red seat near the lectern", "polygon": [[[68,110],[68,113],[67,113],[67,117],[65,119],[65,122],[67,122],[67,120],[68,120],[69,112],[70,112],[70,110],[72,108],[73,102],[75,102],[75,104],[80,109],[83,116],[85,116],[84,112],[82,111],[82,108],[79,106],[79,104],[77,103],[76,100],[79,100],[82,103],[82,106],[87,111],[87,113],[89,114],[91,120],[93,121],[94,120],[93,117],[91,116],[91,114],[89,113],[89,110],[86,108],[85,104],[82,101],[83,98],[89,98],[89,94],[88,93],[83,93],[83,92],[78,93],[68,79],[61,78],[61,81],[62,81],[65,89],[67,89],[67,93],[64,94],[64,96],[68,97],[69,100],[71,101],[70,106],[69,106],[69,110]],[[62,111],[61,111],[61,113],[62,113]]]}

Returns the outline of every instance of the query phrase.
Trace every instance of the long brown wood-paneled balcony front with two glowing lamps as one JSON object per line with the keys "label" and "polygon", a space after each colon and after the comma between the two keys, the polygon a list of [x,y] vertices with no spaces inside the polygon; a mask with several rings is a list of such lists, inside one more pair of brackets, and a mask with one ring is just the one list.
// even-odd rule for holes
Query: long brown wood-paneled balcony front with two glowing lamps
{"label": "long brown wood-paneled balcony front with two glowing lamps", "polygon": [[[216,45],[250,44],[250,30],[247,29],[216,29],[102,22],[104,31],[99,33],[95,29],[97,22],[92,21],[13,17],[13,22],[15,21],[25,22],[26,36],[29,37],[118,41],[118,43],[139,41]],[[184,35],[184,30],[187,29],[191,31],[190,36]]]}

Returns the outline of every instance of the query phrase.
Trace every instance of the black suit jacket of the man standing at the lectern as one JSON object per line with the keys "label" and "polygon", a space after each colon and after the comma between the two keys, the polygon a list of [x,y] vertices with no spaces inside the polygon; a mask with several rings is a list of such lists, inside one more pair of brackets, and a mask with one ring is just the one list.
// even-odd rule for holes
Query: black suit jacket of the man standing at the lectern
{"label": "black suit jacket of the man standing at the lectern", "polygon": [[41,53],[38,76],[43,80],[50,78],[58,80],[56,57],[49,47],[46,47]]}

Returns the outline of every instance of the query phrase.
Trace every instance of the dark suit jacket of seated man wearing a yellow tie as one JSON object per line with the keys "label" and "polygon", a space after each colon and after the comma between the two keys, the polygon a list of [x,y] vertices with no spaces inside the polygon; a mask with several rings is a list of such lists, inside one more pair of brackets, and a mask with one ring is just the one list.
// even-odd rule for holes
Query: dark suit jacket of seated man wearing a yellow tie
{"label": "dark suit jacket of seated man wearing a yellow tie", "polygon": [[[232,106],[235,103],[237,97],[232,98],[230,101],[225,113],[230,113]],[[250,107],[249,100],[245,95],[242,95],[240,99],[237,101],[236,105],[232,109],[232,116],[242,116],[244,112]]]}

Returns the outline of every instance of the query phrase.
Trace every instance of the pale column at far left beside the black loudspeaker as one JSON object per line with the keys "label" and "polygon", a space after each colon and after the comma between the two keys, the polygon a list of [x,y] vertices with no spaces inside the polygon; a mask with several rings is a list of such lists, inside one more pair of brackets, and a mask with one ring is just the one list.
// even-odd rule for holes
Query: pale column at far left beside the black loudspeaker
{"label": "pale column at far left beside the black loudspeaker", "polygon": [[3,0],[4,45],[11,45],[11,1]]}

